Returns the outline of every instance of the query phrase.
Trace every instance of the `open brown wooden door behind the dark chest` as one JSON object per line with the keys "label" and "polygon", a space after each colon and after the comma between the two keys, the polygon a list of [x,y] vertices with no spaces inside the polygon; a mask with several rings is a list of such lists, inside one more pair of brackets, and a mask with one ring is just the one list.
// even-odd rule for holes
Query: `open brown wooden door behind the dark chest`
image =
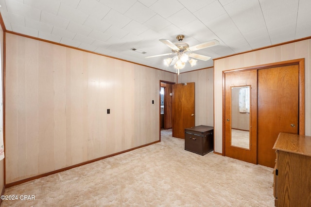
{"label": "open brown wooden door behind the dark chest", "polygon": [[173,137],[185,139],[194,120],[194,82],[173,84]]}

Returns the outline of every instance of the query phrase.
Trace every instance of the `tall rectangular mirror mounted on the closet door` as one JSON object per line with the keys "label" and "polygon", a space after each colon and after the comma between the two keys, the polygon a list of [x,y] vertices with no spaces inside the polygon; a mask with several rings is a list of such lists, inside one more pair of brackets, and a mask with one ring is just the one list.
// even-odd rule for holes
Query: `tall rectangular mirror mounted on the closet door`
{"label": "tall rectangular mirror mounted on the closet door", "polygon": [[231,87],[231,146],[250,149],[250,86]]}

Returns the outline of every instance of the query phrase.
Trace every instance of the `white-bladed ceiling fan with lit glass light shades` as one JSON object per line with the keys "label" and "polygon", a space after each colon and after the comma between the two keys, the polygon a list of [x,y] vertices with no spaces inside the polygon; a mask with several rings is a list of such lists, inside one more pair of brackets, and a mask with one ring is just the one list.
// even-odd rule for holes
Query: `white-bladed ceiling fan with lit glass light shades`
{"label": "white-bladed ceiling fan with lit glass light shades", "polygon": [[[184,39],[184,37],[185,36],[182,34],[177,35],[176,39],[179,42],[176,44],[172,43],[168,39],[160,39],[159,41],[164,43],[169,48],[171,48],[172,52],[160,54],[160,55],[148,56],[145,58],[154,58],[154,57],[159,57],[159,56],[176,54],[176,56],[174,56],[173,58],[164,59],[164,63],[167,66],[174,65],[174,67],[176,68],[176,72],[179,74],[179,69],[184,68],[186,62],[189,62],[190,65],[193,66],[196,64],[197,60],[208,61],[210,59],[210,57],[208,57],[208,56],[196,54],[196,53],[193,53],[193,51],[219,45],[218,40],[210,40],[210,41],[207,41],[205,43],[201,43],[201,44],[189,47],[189,45],[187,43],[181,42]],[[197,60],[195,60],[195,59],[197,59]]]}

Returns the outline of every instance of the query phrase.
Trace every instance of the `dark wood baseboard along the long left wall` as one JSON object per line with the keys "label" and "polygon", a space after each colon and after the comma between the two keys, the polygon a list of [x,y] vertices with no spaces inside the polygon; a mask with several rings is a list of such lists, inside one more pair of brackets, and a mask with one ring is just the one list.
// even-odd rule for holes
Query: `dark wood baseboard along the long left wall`
{"label": "dark wood baseboard along the long left wall", "polygon": [[160,142],[160,141],[158,140],[158,141],[155,141],[155,142],[152,142],[152,143],[140,145],[140,146],[137,146],[137,147],[134,147],[134,148],[131,148],[131,149],[127,149],[127,150],[124,150],[124,151],[121,151],[121,152],[117,152],[117,153],[114,153],[114,154],[111,154],[111,155],[106,155],[104,157],[88,160],[88,161],[85,161],[85,162],[82,162],[82,163],[79,163],[79,164],[71,165],[69,167],[61,168],[59,170],[54,170],[54,171],[49,172],[49,173],[44,173],[44,174],[41,174],[41,175],[36,175],[36,176],[29,177],[29,178],[26,178],[26,179],[18,180],[18,181],[13,182],[13,183],[5,184],[5,186],[3,187],[1,195],[3,195],[5,188],[10,188],[10,187],[13,187],[13,186],[17,186],[17,185],[20,185],[22,183],[29,182],[29,181],[32,181],[32,180],[35,180],[35,179],[38,179],[38,178],[41,178],[41,177],[45,177],[45,176],[48,176],[48,175],[53,175],[55,173],[60,173],[60,172],[63,172],[63,171],[66,171],[66,170],[69,170],[69,169],[72,169],[72,168],[75,168],[75,167],[79,167],[79,166],[82,166],[82,165],[85,165],[85,164],[88,164],[88,163],[91,163],[91,162],[95,162],[95,161],[98,161],[98,160],[101,160],[101,159],[106,159],[106,158],[110,158],[110,157],[113,157],[113,156],[116,156],[116,155],[120,155],[122,153],[129,152],[129,151],[132,151],[132,150],[135,150],[135,149],[138,149],[138,148],[141,148],[141,147],[145,147],[145,146],[148,146],[148,145],[151,145],[151,144],[155,144],[155,143],[158,143],[158,142]]}

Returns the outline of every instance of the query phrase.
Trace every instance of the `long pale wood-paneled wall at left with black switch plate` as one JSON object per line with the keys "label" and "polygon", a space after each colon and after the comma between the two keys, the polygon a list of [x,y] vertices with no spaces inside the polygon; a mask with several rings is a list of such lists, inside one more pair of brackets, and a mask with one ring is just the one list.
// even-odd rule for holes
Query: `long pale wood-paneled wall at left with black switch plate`
{"label": "long pale wood-paneled wall at left with black switch plate", "polygon": [[11,33],[5,78],[7,184],[158,141],[159,80],[176,81]]}

